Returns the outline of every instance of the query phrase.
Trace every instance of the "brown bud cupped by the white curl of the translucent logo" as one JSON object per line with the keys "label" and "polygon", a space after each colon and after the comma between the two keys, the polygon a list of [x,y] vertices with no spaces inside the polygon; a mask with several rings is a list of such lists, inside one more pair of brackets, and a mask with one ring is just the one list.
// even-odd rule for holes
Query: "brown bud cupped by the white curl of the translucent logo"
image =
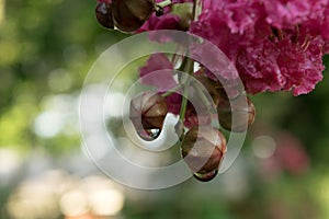
{"label": "brown bud cupped by the white curl of the translucent logo", "polygon": [[131,102],[129,118],[144,140],[156,139],[168,113],[166,100],[154,91],[135,96]]}

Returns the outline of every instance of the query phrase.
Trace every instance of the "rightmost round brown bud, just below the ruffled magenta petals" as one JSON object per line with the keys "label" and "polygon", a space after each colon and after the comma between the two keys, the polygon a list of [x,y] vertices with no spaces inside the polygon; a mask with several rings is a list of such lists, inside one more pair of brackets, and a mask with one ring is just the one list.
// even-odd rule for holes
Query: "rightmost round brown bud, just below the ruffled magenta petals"
{"label": "rightmost round brown bud, just below the ruffled magenta petals", "polygon": [[[235,132],[242,132],[254,122],[256,108],[248,96],[241,95],[230,102],[229,100],[222,99],[217,105],[217,113],[223,128]],[[234,123],[232,115],[235,116]]]}

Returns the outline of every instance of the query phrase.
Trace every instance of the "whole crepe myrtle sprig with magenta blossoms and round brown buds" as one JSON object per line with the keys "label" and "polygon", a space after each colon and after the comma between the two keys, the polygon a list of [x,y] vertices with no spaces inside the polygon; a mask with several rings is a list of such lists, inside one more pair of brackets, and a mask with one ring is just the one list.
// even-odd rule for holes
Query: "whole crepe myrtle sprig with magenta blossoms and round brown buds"
{"label": "whole crepe myrtle sprig with magenta blossoms and round brown buds", "polygon": [[[191,58],[151,55],[139,68],[139,77],[154,91],[135,96],[129,111],[137,134],[148,141],[159,136],[168,113],[177,115],[181,155],[203,182],[214,178],[225,157],[222,128],[241,132],[253,123],[250,94],[311,92],[322,80],[322,57],[329,54],[329,0],[98,0],[95,14],[103,26],[125,33],[178,30],[212,43],[211,47],[190,45]],[[149,33],[150,41],[161,43],[166,37]],[[218,49],[237,71],[218,61]],[[205,64],[195,70],[195,60]],[[174,70],[198,81],[212,100]],[[234,85],[224,89],[220,82],[237,79],[246,91]],[[196,96],[198,108],[192,104]],[[209,104],[216,112],[203,114]],[[220,128],[213,127],[214,118]]]}

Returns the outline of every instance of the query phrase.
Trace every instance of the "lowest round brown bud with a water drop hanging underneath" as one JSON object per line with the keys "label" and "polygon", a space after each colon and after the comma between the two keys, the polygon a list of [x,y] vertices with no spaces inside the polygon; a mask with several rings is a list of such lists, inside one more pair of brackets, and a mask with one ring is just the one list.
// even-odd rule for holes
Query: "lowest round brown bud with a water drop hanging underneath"
{"label": "lowest round brown bud with a water drop hanging underneath", "polygon": [[226,139],[212,126],[194,126],[186,132],[181,152],[194,177],[207,182],[218,172],[226,153]]}

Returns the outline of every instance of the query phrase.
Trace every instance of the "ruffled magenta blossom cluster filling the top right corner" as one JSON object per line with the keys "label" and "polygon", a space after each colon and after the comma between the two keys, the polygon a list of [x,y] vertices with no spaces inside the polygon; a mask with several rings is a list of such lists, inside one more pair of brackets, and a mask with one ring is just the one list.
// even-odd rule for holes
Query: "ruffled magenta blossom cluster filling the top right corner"
{"label": "ruffled magenta blossom cluster filling the top right corner", "polygon": [[[192,1],[174,1],[184,2]],[[329,53],[329,0],[202,0],[202,7],[189,33],[225,53],[248,93],[299,95],[321,81],[322,56]],[[182,19],[168,7],[140,31],[179,30]]]}

